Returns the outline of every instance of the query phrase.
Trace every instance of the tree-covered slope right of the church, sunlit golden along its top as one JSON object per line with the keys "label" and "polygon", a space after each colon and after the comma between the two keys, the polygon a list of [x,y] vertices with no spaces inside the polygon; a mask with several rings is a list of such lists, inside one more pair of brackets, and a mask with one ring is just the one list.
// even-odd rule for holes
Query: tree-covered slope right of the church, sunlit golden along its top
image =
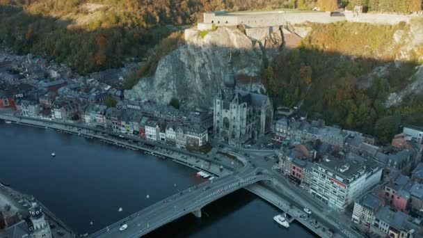
{"label": "tree-covered slope right of the church, sunlit golden along its top", "polygon": [[[295,106],[304,100],[310,116],[380,136],[383,141],[391,138],[401,121],[421,124],[421,94],[408,99],[406,106],[384,106],[389,93],[410,83],[417,59],[423,56],[419,47],[402,51],[409,25],[338,22],[308,26],[312,32],[301,47],[282,52],[263,72],[276,104]],[[404,36],[396,42],[399,32]],[[408,53],[409,60],[396,61],[401,53]]]}

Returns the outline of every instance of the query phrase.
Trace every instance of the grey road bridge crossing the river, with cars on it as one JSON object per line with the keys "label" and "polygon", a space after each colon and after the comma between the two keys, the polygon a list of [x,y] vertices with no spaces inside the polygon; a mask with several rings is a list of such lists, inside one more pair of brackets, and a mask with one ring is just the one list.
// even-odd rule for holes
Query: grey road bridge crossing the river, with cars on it
{"label": "grey road bridge crossing the river, with cars on it", "polygon": [[[89,237],[141,237],[166,223],[189,213],[201,216],[201,208],[238,189],[261,180],[271,180],[271,172],[263,168],[245,168],[225,177],[191,187],[161,200],[121,221],[93,233]],[[126,224],[125,230],[120,230]]]}

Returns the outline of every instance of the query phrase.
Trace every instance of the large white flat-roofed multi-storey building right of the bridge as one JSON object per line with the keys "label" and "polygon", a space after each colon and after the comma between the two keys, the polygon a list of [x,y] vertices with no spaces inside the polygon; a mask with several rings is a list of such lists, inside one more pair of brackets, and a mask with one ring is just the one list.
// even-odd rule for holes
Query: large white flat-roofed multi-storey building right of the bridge
{"label": "large white flat-roofed multi-storey building right of the bridge", "polygon": [[329,207],[343,211],[381,180],[382,168],[376,162],[355,154],[344,159],[327,157],[314,164],[310,193]]}

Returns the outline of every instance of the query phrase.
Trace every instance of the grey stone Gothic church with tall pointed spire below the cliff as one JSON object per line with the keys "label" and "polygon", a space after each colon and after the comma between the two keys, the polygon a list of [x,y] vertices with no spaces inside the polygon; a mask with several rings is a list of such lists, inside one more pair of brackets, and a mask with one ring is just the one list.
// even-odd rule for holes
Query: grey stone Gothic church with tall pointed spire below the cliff
{"label": "grey stone Gothic church with tall pointed spire below the cliff", "polygon": [[214,138],[229,145],[257,140],[271,130],[273,106],[266,95],[236,90],[232,56],[223,89],[214,98]]}

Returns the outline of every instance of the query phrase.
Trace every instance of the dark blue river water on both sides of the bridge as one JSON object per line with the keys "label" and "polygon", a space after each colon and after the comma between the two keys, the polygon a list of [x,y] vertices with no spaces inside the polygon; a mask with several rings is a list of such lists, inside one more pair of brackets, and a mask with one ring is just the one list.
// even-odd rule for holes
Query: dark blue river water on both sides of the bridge
{"label": "dark blue river water on both sides of the bridge", "polygon": [[[104,228],[202,182],[195,178],[196,171],[170,160],[1,120],[0,152],[0,181],[35,196],[79,234]],[[273,222],[278,209],[244,189],[202,211],[201,219],[184,216],[147,237],[314,236],[298,223],[281,228]]]}

